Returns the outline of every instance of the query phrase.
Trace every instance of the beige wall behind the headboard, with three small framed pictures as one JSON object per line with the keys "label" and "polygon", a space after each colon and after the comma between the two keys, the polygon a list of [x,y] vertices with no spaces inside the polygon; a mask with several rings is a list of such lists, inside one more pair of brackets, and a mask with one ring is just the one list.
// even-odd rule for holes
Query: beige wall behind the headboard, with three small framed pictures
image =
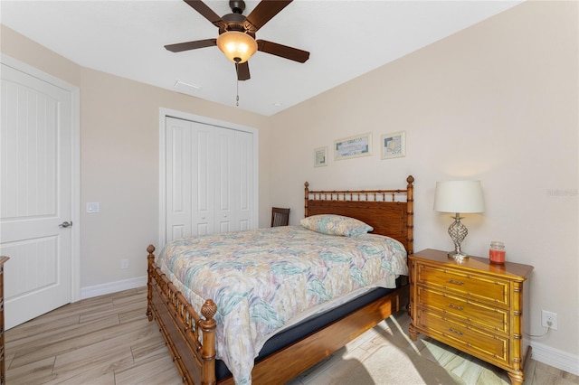
{"label": "beige wall behind the headboard, with three small framed pictures", "polygon": [[[303,215],[302,189],[415,183],[414,249],[451,249],[451,214],[432,210],[436,181],[479,179],[487,209],[465,215],[471,254],[503,240],[530,264],[534,340],[579,354],[577,3],[518,5],[272,117],[271,199]],[[406,156],[381,160],[383,134],[406,132]],[[374,155],[334,161],[335,139],[372,132]],[[327,167],[313,149],[329,147]],[[274,156],[275,154],[275,156]],[[573,357],[572,357],[573,359]]]}

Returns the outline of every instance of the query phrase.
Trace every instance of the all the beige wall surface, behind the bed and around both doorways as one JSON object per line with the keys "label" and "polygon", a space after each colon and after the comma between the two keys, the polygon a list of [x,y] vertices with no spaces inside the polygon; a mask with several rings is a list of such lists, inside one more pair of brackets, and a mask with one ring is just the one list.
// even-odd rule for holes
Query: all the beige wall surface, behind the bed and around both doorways
{"label": "all the beige wall surface, behind the bed and around both doorways", "polygon": [[[81,286],[142,277],[157,239],[158,108],[256,127],[261,226],[272,205],[303,215],[314,189],[397,187],[416,178],[415,249],[450,249],[450,216],[432,211],[436,181],[480,179],[487,210],[466,215],[464,248],[535,267],[531,322],[559,315],[535,340],[579,356],[577,4],[527,2],[274,117],[260,117],[81,68],[2,28],[2,52],[81,88]],[[380,160],[382,134],[406,131],[406,156]],[[374,135],[374,155],[335,162],[333,141]],[[312,150],[330,149],[314,168]],[[84,210],[81,210],[84,211]],[[119,270],[119,259],[130,268]]]}

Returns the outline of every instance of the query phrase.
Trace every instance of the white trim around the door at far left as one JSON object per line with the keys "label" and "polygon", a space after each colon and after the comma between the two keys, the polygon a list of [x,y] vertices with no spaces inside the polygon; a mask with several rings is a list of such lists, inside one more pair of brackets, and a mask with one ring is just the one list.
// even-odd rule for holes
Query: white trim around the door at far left
{"label": "white trim around the door at far left", "polygon": [[76,302],[81,299],[81,89],[5,53],[0,62],[71,95],[71,302]]}

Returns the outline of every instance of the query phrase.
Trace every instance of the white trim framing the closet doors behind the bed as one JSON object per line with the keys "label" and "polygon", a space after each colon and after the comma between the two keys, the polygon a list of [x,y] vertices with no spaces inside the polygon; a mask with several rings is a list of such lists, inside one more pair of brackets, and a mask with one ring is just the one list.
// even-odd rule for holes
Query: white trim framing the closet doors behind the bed
{"label": "white trim framing the closet doors behind the bed", "polygon": [[234,129],[238,131],[244,131],[252,133],[253,137],[253,211],[252,211],[252,223],[255,227],[259,224],[259,131],[256,128],[242,126],[232,122],[226,122],[223,120],[214,119],[212,117],[202,117],[195,114],[190,114],[184,111],[177,111],[170,108],[159,108],[159,232],[158,232],[158,245],[161,249],[165,245],[165,230],[166,230],[166,211],[165,211],[165,168],[166,168],[166,151],[165,151],[165,137],[166,137],[166,117],[176,117],[178,119],[191,120],[194,122],[203,123],[205,125],[211,125],[216,127],[223,127]]}

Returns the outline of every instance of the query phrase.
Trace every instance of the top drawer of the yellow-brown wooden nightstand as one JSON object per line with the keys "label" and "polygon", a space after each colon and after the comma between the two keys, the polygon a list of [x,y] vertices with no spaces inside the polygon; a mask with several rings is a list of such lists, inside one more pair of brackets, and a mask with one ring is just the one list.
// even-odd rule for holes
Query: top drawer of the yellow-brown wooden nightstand
{"label": "top drawer of the yellow-brown wooden nightstand", "polygon": [[417,264],[417,284],[428,285],[441,290],[451,290],[463,296],[470,296],[498,305],[508,306],[510,283],[508,280],[472,274],[465,270],[434,267]]}

